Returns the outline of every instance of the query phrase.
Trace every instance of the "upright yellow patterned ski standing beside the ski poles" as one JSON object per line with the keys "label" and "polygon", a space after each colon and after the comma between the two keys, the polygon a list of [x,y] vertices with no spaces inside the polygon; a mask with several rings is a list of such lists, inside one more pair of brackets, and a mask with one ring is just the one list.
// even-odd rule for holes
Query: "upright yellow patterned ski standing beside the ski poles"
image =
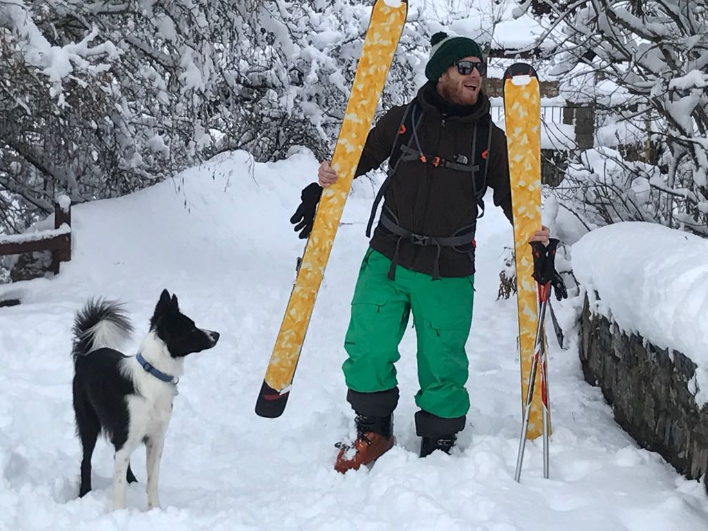
{"label": "upright yellow patterned ski standing beside the ski poles", "polygon": [[[504,119],[514,215],[522,404],[526,399],[538,326],[538,295],[532,277],[533,258],[528,241],[531,234],[541,229],[540,114],[536,72],[529,64],[513,64],[504,74]],[[545,341],[545,331],[543,333]],[[535,389],[541,389],[540,375],[538,371]],[[548,418],[550,433],[550,415]],[[542,428],[541,393],[535,392],[527,438],[537,438],[542,434]]]}

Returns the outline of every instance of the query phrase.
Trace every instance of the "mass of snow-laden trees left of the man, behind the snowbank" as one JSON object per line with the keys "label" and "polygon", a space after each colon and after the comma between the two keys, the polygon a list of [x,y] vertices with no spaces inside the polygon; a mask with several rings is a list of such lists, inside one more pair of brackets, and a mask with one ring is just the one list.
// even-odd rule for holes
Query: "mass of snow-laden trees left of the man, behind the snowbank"
{"label": "mass of snow-laden trees left of the man, behind the snowbank", "polygon": [[[331,156],[370,7],[0,0],[0,232],[49,214],[57,193],[122,195],[227,149]],[[489,18],[482,7],[410,6],[381,112],[424,81],[430,35]]]}

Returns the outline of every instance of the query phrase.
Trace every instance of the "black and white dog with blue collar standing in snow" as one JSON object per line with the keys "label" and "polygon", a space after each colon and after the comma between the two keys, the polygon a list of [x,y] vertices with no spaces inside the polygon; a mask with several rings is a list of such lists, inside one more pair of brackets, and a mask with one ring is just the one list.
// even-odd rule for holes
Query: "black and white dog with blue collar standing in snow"
{"label": "black and white dog with blue collar standing in snow", "polygon": [[140,442],[147,449],[147,506],[159,507],[160,457],[184,357],[215,346],[219,333],[198,329],[167,290],[137,355],[117,350],[132,332],[117,302],[90,299],[76,314],[73,332],[74,412],[84,450],[79,496],[91,491],[91,455],[103,430],[115,447],[113,508],[125,508],[127,483],[137,481],[130,455]]}

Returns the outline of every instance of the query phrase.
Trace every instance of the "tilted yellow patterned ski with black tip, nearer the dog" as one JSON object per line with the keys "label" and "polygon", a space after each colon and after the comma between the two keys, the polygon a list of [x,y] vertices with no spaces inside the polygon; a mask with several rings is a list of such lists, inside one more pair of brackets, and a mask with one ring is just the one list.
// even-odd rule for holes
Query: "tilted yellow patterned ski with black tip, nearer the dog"
{"label": "tilted yellow patterned ski with black tip, nearer the dog", "polygon": [[256,401],[256,413],[260,416],[278,417],[285,409],[324,268],[406,22],[407,7],[405,0],[375,1],[332,158],[332,167],[339,178],[323,191],[319,202],[314,227]]}

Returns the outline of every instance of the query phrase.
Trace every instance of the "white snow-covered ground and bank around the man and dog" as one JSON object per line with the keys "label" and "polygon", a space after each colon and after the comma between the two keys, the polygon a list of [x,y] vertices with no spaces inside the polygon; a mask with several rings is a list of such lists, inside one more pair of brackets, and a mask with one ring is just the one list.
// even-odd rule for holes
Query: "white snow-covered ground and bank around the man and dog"
{"label": "white snow-covered ground and bank around the man and dog", "polygon": [[[341,475],[333,443],[353,432],[340,366],[365,222],[375,193],[355,183],[317,301],[289,404],[278,419],[253,413],[302,241],[288,222],[314,180],[307,153],[275,164],[224,154],[183,180],[74,207],[74,256],[51,280],[0,286],[23,304],[0,308],[0,529],[2,530],[485,530],[695,531],[708,498],[612,421],[583,381],[571,325],[576,300],[557,304],[571,338],[550,338],[554,433],[551,479],[540,441],[513,480],[520,371],[513,299],[496,301],[512,233],[490,207],[479,225],[476,307],[468,350],[472,410],[455,455],[418,459],[413,428],[415,339],[401,344],[396,447],[371,470]],[[86,297],[127,303],[135,348],[161,290],[222,333],[190,356],[179,384],[160,477],[163,507],[147,512],[144,450],[128,509],[110,510],[110,446],[93,457],[89,496],[76,497],[70,360],[73,314]]]}

